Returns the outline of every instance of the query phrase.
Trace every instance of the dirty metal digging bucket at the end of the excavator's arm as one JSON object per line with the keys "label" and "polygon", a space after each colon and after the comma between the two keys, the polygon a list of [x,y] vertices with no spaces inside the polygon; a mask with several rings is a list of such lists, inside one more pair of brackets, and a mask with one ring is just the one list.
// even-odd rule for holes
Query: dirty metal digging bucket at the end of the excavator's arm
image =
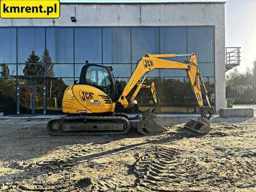
{"label": "dirty metal digging bucket at the end of the excavator's arm", "polygon": [[209,120],[206,118],[191,119],[184,127],[200,134],[207,134],[211,130]]}

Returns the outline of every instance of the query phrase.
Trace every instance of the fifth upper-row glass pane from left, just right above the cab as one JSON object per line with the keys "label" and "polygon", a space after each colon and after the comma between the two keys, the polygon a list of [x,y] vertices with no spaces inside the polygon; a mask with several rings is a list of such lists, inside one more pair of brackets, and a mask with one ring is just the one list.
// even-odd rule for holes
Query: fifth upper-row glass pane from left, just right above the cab
{"label": "fifth upper-row glass pane from left, just right above the cab", "polygon": [[103,62],[130,63],[131,37],[128,27],[103,28]]}

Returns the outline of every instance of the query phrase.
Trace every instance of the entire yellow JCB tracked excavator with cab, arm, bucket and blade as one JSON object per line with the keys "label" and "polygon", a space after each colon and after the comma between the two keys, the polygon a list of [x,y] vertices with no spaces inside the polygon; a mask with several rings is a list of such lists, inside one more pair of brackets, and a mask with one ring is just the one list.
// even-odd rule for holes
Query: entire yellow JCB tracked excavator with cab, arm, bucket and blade
{"label": "entire yellow JCB tracked excavator with cab, arm, bucket and blade", "polygon": [[[190,56],[190,59],[182,62],[164,59],[164,57],[178,56]],[[156,123],[154,110],[147,110],[142,116],[135,118],[129,118],[127,114],[120,112],[137,103],[135,97],[144,85],[147,73],[154,69],[180,69],[187,72],[201,117],[197,120],[190,120],[184,127],[197,133],[208,133],[213,108],[210,106],[196,55],[192,53],[191,55],[144,55],[137,62],[137,68],[121,91],[118,91],[111,67],[84,65],[81,69],[79,84],[68,86],[64,92],[63,112],[68,115],[49,120],[47,124],[49,134],[53,136],[122,135],[129,132],[131,127],[137,128],[142,134],[144,130],[148,132],[166,131]],[[154,85],[151,86],[152,95],[156,101]],[[202,90],[208,106],[203,104]]]}

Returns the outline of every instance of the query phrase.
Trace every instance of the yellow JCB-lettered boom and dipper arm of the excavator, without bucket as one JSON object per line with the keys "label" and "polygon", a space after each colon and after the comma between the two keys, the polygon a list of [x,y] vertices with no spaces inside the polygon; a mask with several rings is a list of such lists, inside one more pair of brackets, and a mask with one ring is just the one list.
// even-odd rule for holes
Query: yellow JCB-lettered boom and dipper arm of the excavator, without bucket
{"label": "yellow JCB-lettered boom and dipper arm of the excavator, without bucket", "polygon": [[[190,59],[188,62],[177,62],[163,59],[164,57],[170,58],[177,56],[190,56]],[[191,55],[144,55],[139,61],[137,68],[134,70],[130,80],[127,82],[125,89],[123,89],[123,92],[118,99],[118,102],[121,103],[123,107],[128,107],[132,99],[134,99],[134,97],[131,97],[129,101],[127,99],[127,95],[131,92],[131,90],[133,90],[134,86],[139,83],[139,80],[141,80],[145,73],[147,76],[147,73],[154,69],[186,70],[189,82],[192,87],[193,95],[196,99],[197,106],[200,108],[201,116],[205,116],[205,111],[207,111],[210,115],[213,114],[212,107],[209,103],[207,90],[205,89],[203,78],[201,77],[200,69],[197,65],[195,53],[192,53]],[[146,78],[146,76],[144,76],[143,80]],[[201,89],[204,90],[205,97],[207,98],[208,102],[208,107],[204,107]]]}

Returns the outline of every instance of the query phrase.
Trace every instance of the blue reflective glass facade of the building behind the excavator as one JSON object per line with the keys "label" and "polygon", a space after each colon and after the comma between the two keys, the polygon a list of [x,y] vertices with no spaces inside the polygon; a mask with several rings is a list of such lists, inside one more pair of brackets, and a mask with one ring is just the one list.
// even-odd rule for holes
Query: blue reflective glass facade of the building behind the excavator
{"label": "blue reflective glass facade of the building behind the excavator", "polygon": [[[125,86],[145,53],[195,52],[214,105],[214,27],[2,27],[0,36],[0,112],[6,114],[16,113],[18,84],[46,85],[47,113],[57,113],[65,87],[79,79],[86,60],[113,66],[114,77]],[[155,82],[158,112],[198,112],[185,71],[156,69],[146,81]],[[35,90],[40,109],[41,89]],[[30,97],[24,93],[20,99]],[[137,100],[142,111],[153,105],[148,89]],[[29,103],[20,100],[23,108]]]}

